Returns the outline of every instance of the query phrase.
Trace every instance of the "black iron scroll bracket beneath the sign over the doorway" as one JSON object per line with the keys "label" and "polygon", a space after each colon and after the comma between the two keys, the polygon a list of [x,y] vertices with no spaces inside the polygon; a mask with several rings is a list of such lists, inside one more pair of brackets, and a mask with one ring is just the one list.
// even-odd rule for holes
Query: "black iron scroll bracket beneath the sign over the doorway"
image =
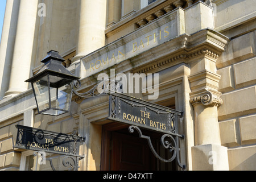
{"label": "black iron scroll bracket beneath the sign over the doorway", "polygon": [[[177,164],[179,165],[179,167],[185,169],[185,165],[180,163],[180,159],[179,159],[179,138],[180,139],[184,139],[184,135],[177,135],[174,137],[172,137],[172,135],[170,134],[164,134],[161,138],[161,144],[164,148],[170,150],[170,152],[172,153],[172,157],[170,159],[163,159],[161,156],[158,155],[158,153],[155,151],[155,148],[152,145],[151,139],[150,137],[143,135],[141,129],[139,129],[139,127],[137,126],[130,126],[129,127],[129,132],[130,133],[134,133],[134,129],[138,131],[139,133],[139,138],[143,138],[146,139],[148,142],[148,145],[150,146],[150,149],[152,151],[152,153],[155,155],[156,158],[158,158],[159,160],[161,160],[162,162],[165,163],[170,163],[173,160],[176,159]],[[166,139],[169,140],[166,140]]]}

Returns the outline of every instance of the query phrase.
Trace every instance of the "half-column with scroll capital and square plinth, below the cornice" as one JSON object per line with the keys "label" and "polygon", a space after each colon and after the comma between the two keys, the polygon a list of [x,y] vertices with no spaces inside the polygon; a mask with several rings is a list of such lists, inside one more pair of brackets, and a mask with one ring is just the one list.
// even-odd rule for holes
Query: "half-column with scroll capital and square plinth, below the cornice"
{"label": "half-column with scroll capital and square plinth, below the cornice", "polygon": [[213,81],[207,74],[204,77],[197,77],[196,80],[192,78],[195,76],[189,78],[193,85],[189,102],[193,106],[195,127],[195,146],[191,148],[192,169],[228,170],[228,151],[226,147],[221,146],[218,125],[217,107],[223,102],[220,98],[221,93],[216,91],[219,79]]}

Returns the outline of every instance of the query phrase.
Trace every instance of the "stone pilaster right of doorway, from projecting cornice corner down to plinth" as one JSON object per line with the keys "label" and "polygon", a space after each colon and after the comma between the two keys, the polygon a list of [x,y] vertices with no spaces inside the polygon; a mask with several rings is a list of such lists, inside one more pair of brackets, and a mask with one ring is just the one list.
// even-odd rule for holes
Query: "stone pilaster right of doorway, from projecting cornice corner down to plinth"
{"label": "stone pilaster right of doorway, from projecting cornice corner down to plinth", "polygon": [[224,51],[228,39],[217,32],[208,32],[207,35],[200,36],[199,33],[195,36],[201,39],[202,44],[197,44],[197,51],[192,48],[193,52],[187,56],[191,65],[189,102],[193,106],[195,132],[195,146],[191,148],[192,169],[228,170],[228,152],[226,147],[221,146],[218,125],[217,108],[223,102],[218,92],[221,77],[216,73],[216,60]]}

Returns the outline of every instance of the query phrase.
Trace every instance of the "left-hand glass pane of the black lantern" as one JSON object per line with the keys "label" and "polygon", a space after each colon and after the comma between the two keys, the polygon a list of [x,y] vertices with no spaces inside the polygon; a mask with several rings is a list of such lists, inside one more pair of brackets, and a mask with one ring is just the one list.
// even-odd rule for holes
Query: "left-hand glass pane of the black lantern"
{"label": "left-hand glass pane of the black lantern", "polygon": [[38,111],[49,108],[49,89],[47,76],[33,83]]}

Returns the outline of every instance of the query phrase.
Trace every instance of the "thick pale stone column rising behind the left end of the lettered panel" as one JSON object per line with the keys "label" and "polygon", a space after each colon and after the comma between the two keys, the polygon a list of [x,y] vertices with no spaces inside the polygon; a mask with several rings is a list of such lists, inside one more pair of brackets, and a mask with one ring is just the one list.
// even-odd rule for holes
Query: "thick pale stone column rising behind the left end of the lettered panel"
{"label": "thick pale stone column rising behind the left end of the lettered panel", "polygon": [[81,57],[88,53],[105,46],[105,28],[106,1],[81,0],[77,55],[73,58],[72,64],[80,61]]}

